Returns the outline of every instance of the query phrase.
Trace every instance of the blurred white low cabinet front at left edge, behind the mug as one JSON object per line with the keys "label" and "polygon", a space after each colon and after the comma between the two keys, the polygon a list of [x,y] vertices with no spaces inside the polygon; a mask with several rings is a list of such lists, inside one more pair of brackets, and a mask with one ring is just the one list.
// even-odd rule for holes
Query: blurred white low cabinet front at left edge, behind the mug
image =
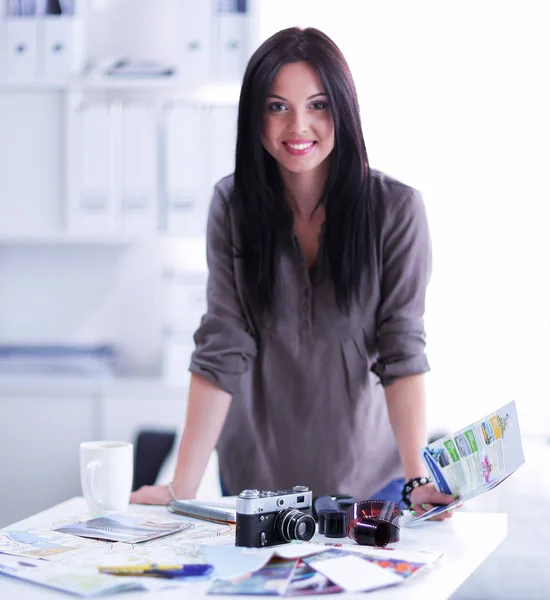
{"label": "blurred white low cabinet front at left edge, behind the mug", "polygon": [[79,444],[97,434],[93,394],[0,391],[0,527],[80,495]]}

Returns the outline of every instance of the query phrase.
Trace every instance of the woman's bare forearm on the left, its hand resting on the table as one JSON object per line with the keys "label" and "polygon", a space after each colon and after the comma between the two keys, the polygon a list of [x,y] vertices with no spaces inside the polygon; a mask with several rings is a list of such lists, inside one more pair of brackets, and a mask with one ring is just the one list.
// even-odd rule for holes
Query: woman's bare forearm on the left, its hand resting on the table
{"label": "woman's bare forearm on the left, its hand resting on the table", "polygon": [[230,394],[200,375],[191,375],[187,418],[172,483],[178,498],[194,498],[230,404]]}

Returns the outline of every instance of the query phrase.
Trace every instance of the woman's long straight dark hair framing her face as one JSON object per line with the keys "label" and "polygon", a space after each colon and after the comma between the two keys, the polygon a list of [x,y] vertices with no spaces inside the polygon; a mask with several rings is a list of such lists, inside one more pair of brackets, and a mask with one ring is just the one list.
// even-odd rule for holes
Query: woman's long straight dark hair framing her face
{"label": "woman's long straight dark hair framing her face", "polygon": [[243,261],[245,300],[254,311],[272,311],[279,256],[293,224],[276,161],[261,142],[261,127],[265,99],[277,72],[298,61],[307,61],[317,72],[334,120],[334,149],[319,201],[324,202],[326,213],[322,252],[337,305],[347,313],[365,266],[374,258],[369,168],[348,64],[336,44],[314,28],[279,31],[256,50],[244,74],[231,201],[240,238],[236,251]]}

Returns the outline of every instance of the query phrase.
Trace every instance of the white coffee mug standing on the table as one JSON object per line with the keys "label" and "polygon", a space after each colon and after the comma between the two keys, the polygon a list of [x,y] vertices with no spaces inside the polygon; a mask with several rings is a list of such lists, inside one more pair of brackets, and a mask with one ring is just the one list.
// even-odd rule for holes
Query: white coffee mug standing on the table
{"label": "white coffee mug standing on the table", "polygon": [[91,513],[124,512],[134,477],[134,446],[130,442],[80,444],[80,483]]}

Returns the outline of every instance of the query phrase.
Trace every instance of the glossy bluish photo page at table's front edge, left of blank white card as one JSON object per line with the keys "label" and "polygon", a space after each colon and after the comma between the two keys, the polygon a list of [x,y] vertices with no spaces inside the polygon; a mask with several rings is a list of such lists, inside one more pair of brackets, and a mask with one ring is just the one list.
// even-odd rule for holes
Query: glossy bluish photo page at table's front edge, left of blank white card
{"label": "glossy bluish photo page at table's front edge, left of blank white card", "polygon": [[234,579],[215,580],[208,593],[283,596],[291,581],[296,563],[296,560],[272,558],[267,565],[252,573]]}

